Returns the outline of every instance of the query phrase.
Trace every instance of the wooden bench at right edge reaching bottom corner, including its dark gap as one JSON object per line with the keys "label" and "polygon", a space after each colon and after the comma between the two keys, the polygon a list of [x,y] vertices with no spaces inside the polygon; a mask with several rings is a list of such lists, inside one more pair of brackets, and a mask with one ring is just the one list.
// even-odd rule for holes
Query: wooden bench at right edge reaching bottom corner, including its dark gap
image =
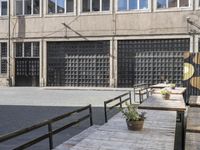
{"label": "wooden bench at right edge reaching bottom corner, including its dark gap", "polygon": [[200,149],[200,107],[189,107],[186,125],[185,150]]}

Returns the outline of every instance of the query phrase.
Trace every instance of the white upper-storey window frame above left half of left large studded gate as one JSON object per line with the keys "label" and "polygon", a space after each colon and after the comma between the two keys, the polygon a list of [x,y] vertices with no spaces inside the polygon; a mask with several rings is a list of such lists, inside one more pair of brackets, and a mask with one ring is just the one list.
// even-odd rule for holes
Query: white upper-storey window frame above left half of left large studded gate
{"label": "white upper-storey window frame above left half of left large studded gate", "polygon": [[76,13],[76,0],[73,0],[73,11],[72,12],[67,12],[67,0],[64,0],[64,12],[63,13],[58,13],[57,11],[57,1],[58,0],[55,0],[56,3],[55,3],[55,13],[49,13],[49,0],[46,0],[46,15],[49,15],[49,16],[52,16],[52,15],[59,15],[59,16],[62,16],[62,15],[73,15]]}

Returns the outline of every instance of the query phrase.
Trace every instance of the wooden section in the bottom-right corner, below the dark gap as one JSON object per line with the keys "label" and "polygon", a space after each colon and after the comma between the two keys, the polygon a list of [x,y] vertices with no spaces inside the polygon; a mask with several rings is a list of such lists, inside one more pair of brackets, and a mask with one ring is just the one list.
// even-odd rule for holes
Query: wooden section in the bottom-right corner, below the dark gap
{"label": "wooden section in the bottom-right corner, below the dark gap", "polygon": [[185,150],[200,150],[200,134],[186,132]]}

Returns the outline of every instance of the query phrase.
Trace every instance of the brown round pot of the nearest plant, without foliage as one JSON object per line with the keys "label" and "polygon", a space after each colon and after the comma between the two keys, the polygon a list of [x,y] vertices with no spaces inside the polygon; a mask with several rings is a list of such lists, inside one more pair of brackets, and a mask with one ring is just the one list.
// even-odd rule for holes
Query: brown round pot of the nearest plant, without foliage
{"label": "brown round pot of the nearest plant, without foliage", "polygon": [[139,121],[126,120],[126,123],[129,130],[140,131],[143,129],[144,120],[139,120]]}

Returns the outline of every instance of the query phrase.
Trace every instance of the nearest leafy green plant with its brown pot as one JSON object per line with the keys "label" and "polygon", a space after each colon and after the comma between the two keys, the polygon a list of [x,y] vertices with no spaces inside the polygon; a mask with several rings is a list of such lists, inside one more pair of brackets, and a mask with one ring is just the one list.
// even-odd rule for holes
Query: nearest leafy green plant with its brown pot
{"label": "nearest leafy green plant with its brown pot", "polygon": [[127,108],[121,109],[123,116],[126,118],[129,130],[138,131],[143,129],[145,112],[139,113],[137,107],[126,103]]}

